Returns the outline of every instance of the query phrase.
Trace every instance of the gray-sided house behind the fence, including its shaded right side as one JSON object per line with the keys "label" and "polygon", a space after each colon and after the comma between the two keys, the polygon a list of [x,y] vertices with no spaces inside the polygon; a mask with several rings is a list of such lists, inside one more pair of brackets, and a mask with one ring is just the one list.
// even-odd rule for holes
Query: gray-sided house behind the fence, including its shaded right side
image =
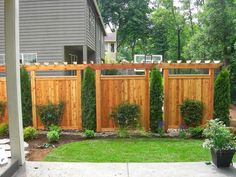
{"label": "gray-sided house behind the fence, including its shaded right side", "polygon": [[[5,53],[3,2],[0,0],[0,54]],[[87,46],[88,61],[100,62],[104,54],[96,30],[102,31],[102,38],[105,33],[94,3],[94,0],[20,0],[20,53],[37,53],[38,62],[69,62],[72,54],[82,63],[83,46]],[[95,19],[92,29],[90,13]]]}

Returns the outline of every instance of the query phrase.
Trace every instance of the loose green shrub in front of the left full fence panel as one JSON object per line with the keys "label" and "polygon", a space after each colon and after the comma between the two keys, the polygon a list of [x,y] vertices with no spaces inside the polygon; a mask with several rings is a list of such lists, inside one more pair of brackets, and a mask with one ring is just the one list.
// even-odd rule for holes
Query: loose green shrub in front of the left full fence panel
{"label": "loose green shrub in front of the left full fence panel", "polygon": [[47,105],[38,106],[37,113],[44,125],[48,128],[49,125],[59,125],[64,112],[64,103],[59,104],[48,103]]}

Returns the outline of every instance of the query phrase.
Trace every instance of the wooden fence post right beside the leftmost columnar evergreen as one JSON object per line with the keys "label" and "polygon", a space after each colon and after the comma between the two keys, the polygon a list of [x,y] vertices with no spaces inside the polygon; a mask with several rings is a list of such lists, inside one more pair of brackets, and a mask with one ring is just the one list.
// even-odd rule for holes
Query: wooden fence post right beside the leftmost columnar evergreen
{"label": "wooden fence post right beside the leftmost columnar evergreen", "polygon": [[37,123],[37,113],[36,113],[36,83],[35,83],[35,71],[30,72],[30,80],[31,80],[31,99],[32,99],[32,119],[33,119],[33,127],[38,128]]}

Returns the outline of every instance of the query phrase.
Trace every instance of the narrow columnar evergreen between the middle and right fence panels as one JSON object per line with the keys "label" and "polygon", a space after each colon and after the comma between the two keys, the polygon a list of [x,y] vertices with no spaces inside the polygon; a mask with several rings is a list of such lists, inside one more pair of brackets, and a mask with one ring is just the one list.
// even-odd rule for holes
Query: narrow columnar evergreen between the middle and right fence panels
{"label": "narrow columnar evergreen between the middle and right fence panels", "polygon": [[158,69],[151,72],[150,83],[150,127],[152,132],[158,132],[162,128],[163,121],[163,84],[162,76]]}

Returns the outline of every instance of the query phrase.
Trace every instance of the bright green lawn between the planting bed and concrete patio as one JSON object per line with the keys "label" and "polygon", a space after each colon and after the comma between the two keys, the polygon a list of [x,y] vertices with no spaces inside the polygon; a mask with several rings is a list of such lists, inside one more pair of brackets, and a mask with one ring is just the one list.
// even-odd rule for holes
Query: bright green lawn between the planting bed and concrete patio
{"label": "bright green lawn between the planting bed and concrete patio", "polygon": [[[45,161],[60,162],[196,162],[210,161],[201,140],[136,138],[86,140],[53,150]],[[234,158],[236,161],[236,157]]]}

